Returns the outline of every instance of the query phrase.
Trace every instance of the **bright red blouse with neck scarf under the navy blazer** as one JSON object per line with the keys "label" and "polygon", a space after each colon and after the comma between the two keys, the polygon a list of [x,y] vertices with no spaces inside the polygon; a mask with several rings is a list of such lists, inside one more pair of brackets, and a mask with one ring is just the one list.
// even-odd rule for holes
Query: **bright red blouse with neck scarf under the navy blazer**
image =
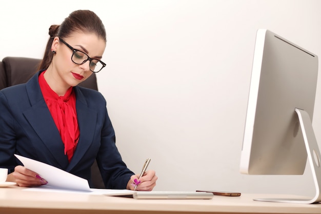
{"label": "bright red blouse with neck scarf under the navy blazer", "polygon": [[58,96],[45,80],[44,73],[39,75],[39,85],[51,116],[65,144],[65,154],[70,162],[79,140],[76,115],[76,96],[70,87],[64,96]]}

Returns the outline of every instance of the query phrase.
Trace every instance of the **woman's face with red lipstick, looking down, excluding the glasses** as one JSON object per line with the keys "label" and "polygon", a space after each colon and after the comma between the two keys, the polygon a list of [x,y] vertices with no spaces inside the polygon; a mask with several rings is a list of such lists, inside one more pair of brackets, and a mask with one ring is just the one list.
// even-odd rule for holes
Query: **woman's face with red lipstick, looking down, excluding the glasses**
{"label": "woman's face with red lipstick, looking down, excluding the glasses", "polygon": [[[96,34],[73,33],[69,37],[62,39],[72,48],[85,52],[92,59],[102,59],[106,42]],[[58,37],[55,37],[51,46],[52,50],[56,51],[52,64],[47,69],[47,72],[49,71],[50,73],[50,80],[52,80],[49,80],[51,84],[48,83],[51,87],[52,84],[55,84],[58,88],[76,86],[92,74],[92,71],[89,69],[89,60],[81,65],[72,62],[71,56],[73,51],[65,43],[59,41]],[[52,88],[54,89],[55,86]]]}

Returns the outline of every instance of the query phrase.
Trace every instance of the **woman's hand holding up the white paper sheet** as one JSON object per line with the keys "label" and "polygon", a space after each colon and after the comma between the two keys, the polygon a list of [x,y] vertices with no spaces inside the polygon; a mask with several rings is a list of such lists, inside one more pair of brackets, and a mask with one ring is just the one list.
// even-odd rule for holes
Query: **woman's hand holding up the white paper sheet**
{"label": "woman's hand holding up the white paper sheet", "polygon": [[7,181],[15,182],[18,186],[41,186],[48,182],[41,178],[36,172],[24,166],[16,166],[14,172],[8,174]]}

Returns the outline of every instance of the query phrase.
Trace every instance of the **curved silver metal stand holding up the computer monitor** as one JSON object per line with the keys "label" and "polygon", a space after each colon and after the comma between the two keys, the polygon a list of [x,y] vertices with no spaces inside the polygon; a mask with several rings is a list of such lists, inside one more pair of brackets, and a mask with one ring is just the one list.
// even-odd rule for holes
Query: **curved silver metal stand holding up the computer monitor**
{"label": "curved silver metal stand holding up the computer monitor", "polygon": [[321,166],[320,166],[320,151],[316,142],[314,131],[312,128],[312,121],[309,114],[302,109],[295,108],[298,115],[300,126],[303,133],[304,142],[308,153],[308,161],[311,166],[312,176],[315,186],[315,196],[312,199],[254,199],[254,201],[269,201],[269,202],[284,202],[284,203],[300,203],[312,204],[321,202],[320,185],[321,185]]}

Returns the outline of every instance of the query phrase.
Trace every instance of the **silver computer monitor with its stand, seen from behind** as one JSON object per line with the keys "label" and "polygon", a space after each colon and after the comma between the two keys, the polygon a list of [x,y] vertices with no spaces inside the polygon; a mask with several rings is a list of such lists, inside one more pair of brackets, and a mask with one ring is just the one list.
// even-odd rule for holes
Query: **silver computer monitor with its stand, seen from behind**
{"label": "silver computer monitor with its stand, seen from behind", "polygon": [[303,174],[310,163],[321,201],[320,151],[312,128],[318,57],[266,29],[257,30],[240,172]]}

